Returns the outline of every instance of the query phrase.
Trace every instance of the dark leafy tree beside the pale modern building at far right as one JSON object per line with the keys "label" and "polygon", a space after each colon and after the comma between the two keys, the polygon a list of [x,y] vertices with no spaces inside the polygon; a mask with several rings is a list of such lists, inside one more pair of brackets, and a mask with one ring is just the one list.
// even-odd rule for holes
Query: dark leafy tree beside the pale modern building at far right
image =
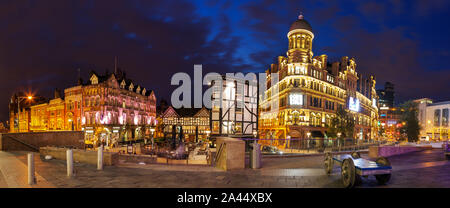
{"label": "dark leafy tree beside the pale modern building at far right", "polygon": [[408,142],[418,141],[421,127],[417,118],[417,103],[413,101],[407,101],[400,105],[400,109],[400,122],[402,124],[400,128],[401,135],[403,135],[403,137],[406,137],[408,139]]}

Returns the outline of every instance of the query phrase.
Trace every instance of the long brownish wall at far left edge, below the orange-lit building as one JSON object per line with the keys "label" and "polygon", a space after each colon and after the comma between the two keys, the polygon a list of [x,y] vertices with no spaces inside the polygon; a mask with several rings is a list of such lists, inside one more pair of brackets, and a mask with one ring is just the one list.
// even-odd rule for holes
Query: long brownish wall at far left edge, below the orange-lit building
{"label": "long brownish wall at far left edge, below the orange-lit building", "polygon": [[38,151],[40,147],[46,146],[84,149],[84,133],[57,131],[0,134],[2,151]]}

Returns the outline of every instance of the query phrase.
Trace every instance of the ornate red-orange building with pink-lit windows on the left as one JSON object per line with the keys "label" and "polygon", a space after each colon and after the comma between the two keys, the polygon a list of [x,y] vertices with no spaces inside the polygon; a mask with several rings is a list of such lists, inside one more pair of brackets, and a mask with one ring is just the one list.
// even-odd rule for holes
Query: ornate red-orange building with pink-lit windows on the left
{"label": "ornate red-orange building with pink-lit windows on the left", "polygon": [[122,71],[92,71],[88,82],[80,79],[65,89],[64,98],[56,90],[48,102],[40,97],[22,100],[19,115],[18,96],[11,98],[10,132],[19,132],[19,120],[20,132],[84,131],[86,144],[111,145],[150,137],[157,124],[154,91],[135,85]]}

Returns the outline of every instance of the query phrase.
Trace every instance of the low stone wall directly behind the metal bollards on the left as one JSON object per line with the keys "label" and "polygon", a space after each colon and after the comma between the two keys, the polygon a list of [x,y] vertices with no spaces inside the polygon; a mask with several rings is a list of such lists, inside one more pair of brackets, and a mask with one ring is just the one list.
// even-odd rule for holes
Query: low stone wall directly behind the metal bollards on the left
{"label": "low stone wall directly behind the metal bollards on the left", "polygon": [[[58,160],[66,160],[67,148],[41,147],[41,156],[51,155]],[[73,149],[73,161],[97,165],[97,150]],[[116,152],[103,152],[103,165],[115,165],[119,163],[119,154]]]}

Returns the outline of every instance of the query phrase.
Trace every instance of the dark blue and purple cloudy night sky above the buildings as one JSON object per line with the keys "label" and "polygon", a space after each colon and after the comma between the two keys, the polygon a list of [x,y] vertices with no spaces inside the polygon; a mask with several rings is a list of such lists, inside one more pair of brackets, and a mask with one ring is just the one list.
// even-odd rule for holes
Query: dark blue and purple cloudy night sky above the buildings
{"label": "dark blue and purple cloudy night sky above the buildings", "polygon": [[170,99],[176,72],[263,72],[285,55],[300,12],[313,27],[314,55],[355,57],[396,102],[450,100],[450,1],[0,1],[0,121],[13,92],[51,97],[113,72]]}

